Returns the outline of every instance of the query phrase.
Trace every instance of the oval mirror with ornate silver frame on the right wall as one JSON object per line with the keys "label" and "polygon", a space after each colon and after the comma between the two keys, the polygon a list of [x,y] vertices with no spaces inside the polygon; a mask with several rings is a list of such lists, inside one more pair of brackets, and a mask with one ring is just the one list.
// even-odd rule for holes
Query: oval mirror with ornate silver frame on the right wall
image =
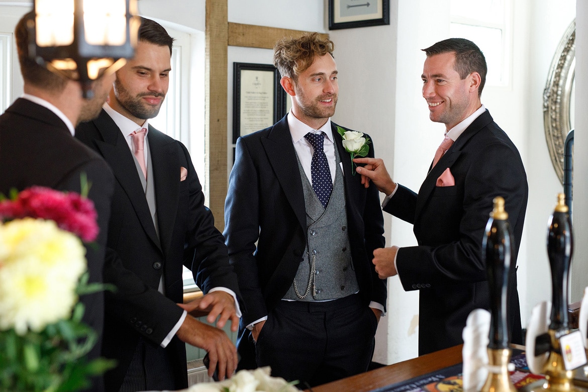
{"label": "oval mirror with ornate silver frame on the right wall", "polygon": [[573,128],[573,89],[576,66],[576,21],[557,46],[543,91],[543,121],[553,167],[563,183],[564,143]]}

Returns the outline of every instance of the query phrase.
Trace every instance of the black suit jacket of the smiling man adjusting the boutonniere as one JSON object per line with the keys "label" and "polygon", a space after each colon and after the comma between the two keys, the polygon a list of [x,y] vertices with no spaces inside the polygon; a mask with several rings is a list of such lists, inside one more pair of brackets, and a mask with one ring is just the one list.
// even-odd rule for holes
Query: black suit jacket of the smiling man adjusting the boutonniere
{"label": "black suit jacket of the smiling man adjusting the boutonniere", "polygon": [[[449,167],[455,186],[436,186]],[[529,189],[515,145],[486,110],[427,175],[419,194],[399,186],[384,210],[413,223],[418,246],[401,247],[396,267],[405,290],[420,289],[419,354],[462,343],[470,311],[490,307],[482,240],[496,196],[520,246]],[[516,260],[513,260],[516,262]],[[523,343],[516,274],[509,287],[513,343]]]}

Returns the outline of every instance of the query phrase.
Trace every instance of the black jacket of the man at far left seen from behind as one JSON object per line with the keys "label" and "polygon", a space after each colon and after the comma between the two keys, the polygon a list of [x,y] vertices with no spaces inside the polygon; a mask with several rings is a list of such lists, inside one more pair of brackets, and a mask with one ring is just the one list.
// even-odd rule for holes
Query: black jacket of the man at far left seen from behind
{"label": "black jacket of the man at far left seen from behind", "polygon": [[[90,282],[102,282],[102,267],[108,217],[113,193],[113,176],[104,160],[74,139],[65,123],[51,110],[19,98],[0,116],[0,192],[23,190],[33,185],[81,192],[81,175],[91,187],[88,197],[98,212],[100,232],[97,246],[86,246]],[[102,336],[103,293],[80,298],[85,305],[83,321]],[[99,340],[89,354],[93,359],[101,350]],[[95,380],[92,390],[102,390]]]}

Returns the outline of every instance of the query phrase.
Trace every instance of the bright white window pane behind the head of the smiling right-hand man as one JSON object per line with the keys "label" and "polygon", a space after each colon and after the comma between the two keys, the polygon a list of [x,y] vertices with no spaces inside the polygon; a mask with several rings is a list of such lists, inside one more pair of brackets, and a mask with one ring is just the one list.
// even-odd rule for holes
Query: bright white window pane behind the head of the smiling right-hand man
{"label": "bright white window pane behind the head of the smiling right-hand man", "polygon": [[482,26],[471,26],[460,23],[452,23],[450,35],[454,38],[466,38],[474,42],[484,53],[488,74],[487,85],[504,85],[503,77],[503,48],[502,30]]}

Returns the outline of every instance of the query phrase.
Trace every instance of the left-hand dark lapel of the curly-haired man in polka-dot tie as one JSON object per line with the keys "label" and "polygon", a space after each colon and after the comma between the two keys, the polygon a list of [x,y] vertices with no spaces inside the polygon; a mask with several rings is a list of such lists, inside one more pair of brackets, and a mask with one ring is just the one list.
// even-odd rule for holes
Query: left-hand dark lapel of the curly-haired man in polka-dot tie
{"label": "left-hand dark lapel of the curly-haired man in polka-dot tie", "polygon": [[[296,217],[298,217],[300,226],[306,228],[306,207],[302,179],[300,179],[296,150],[292,143],[292,136],[290,136],[287,118],[288,115],[276,123],[270,130],[268,138],[262,138],[261,143],[268,156],[269,163],[272,165],[273,172],[284,190],[286,199],[288,199]],[[292,175],[292,173],[295,173],[295,175]]]}

